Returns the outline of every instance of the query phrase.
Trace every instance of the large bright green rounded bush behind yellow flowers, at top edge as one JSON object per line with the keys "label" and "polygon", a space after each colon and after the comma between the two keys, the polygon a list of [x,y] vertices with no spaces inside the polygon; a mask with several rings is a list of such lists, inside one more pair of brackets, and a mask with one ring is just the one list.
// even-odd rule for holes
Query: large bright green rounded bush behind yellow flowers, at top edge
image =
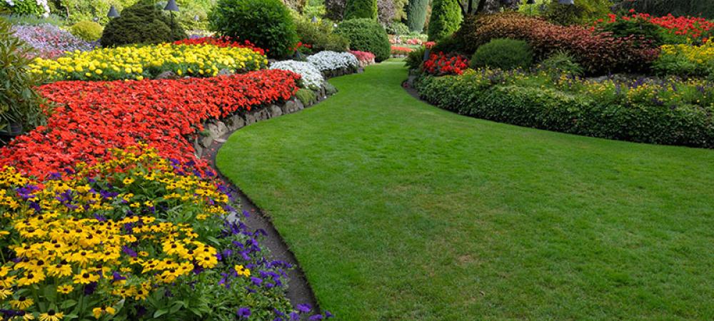
{"label": "large bright green rounded bush behind yellow flowers, at top edge", "polygon": [[292,54],[298,42],[295,22],[281,0],[218,0],[209,15],[211,29],[252,41],[271,58]]}

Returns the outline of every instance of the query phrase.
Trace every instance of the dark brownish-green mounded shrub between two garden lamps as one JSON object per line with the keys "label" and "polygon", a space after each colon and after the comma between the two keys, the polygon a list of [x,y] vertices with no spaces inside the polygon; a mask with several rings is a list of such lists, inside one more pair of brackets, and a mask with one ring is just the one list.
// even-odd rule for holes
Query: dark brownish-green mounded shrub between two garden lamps
{"label": "dark brownish-green mounded shrub between two garden lamps", "polygon": [[141,0],[121,11],[119,18],[112,19],[104,27],[99,42],[101,46],[124,46],[127,44],[160,44],[185,39],[186,31],[171,19],[151,0]]}

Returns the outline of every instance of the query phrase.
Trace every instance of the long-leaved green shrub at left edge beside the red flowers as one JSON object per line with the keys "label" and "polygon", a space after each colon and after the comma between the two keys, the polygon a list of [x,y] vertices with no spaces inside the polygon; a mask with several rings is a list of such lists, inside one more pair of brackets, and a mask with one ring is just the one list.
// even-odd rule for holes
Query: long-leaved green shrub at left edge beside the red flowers
{"label": "long-leaved green shrub at left edge beside the red flowers", "polygon": [[42,79],[28,72],[30,50],[0,19],[0,127],[21,123],[27,131],[44,122],[40,107],[44,99],[34,89]]}

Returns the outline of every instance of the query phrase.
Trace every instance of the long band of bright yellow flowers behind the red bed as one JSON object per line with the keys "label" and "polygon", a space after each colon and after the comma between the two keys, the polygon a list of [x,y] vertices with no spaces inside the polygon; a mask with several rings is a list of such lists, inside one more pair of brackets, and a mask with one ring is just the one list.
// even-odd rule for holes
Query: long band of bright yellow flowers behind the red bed
{"label": "long band of bright yellow flowers behind the red bed", "polygon": [[55,60],[35,58],[30,72],[51,81],[110,81],[178,76],[216,76],[222,69],[241,73],[266,68],[266,56],[250,48],[211,44],[158,44],[74,51]]}

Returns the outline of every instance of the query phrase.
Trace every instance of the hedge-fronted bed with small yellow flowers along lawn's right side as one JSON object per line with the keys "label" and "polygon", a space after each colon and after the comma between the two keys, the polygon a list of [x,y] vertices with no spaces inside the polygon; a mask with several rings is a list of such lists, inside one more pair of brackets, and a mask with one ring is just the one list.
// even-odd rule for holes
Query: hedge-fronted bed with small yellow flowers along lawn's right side
{"label": "hedge-fronted bed with small yellow flowers along lawn's right side", "polygon": [[421,78],[421,96],[469,116],[585,136],[714,148],[707,81],[583,81],[518,71]]}

